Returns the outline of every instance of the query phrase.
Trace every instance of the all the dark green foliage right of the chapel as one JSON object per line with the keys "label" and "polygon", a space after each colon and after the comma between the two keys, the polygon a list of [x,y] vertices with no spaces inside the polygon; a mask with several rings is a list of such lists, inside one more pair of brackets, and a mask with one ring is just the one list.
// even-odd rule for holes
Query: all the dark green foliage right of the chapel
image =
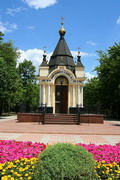
{"label": "all the dark green foliage right of the chapel", "polygon": [[84,102],[100,104],[104,112],[120,117],[120,44],[115,43],[106,52],[98,51],[97,78],[88,81],[84,89]]}

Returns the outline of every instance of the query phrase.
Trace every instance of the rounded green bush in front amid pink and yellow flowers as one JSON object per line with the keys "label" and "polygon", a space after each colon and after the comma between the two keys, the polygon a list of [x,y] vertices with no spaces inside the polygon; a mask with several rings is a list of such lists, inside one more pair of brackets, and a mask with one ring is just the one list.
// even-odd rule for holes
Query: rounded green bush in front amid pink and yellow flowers
{"label": "rounded green bush in front amid pink and yellow flowers", "polygon": [[35,166],[35,180],[95,180],[95,161],[81,146],[58,143],[44,150]]}

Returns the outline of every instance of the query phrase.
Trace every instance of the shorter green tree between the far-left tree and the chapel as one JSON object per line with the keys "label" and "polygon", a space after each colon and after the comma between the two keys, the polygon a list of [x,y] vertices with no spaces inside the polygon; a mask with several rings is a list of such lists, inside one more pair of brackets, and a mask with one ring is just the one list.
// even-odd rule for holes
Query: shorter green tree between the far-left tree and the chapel
{"label": "shorter green tree between the far-left tree and the chapel", "polygon": [[23,103],[27,111],[36,110],[39,105],[39,86],[36,81],[35,67],[31,61],[24,60],[18,66],[18,73],[23,84]]}

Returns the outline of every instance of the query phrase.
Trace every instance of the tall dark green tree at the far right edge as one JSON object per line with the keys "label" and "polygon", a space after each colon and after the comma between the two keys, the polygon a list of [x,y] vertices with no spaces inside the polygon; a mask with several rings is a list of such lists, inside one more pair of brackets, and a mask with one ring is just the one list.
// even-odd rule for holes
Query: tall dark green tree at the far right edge
{"label": "tall dark green tree at the far right edge", "polygon": [[98,51],[100,65],[95,68],[100,82],[101,104],[120,117],[120,44],[115,43],[106,52]]}

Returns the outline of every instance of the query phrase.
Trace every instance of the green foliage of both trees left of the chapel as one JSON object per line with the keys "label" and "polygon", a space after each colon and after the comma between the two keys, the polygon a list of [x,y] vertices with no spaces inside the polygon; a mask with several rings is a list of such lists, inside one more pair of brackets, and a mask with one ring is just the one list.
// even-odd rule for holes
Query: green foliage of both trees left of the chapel
{"label": "green foliage of both trees left of the chapel", "polygon": [[21,103],[26,103],[29,109],[37,108],[39,87],[35,67],[25,60],[17,69],[20,53],[12,41],[4,43],[3,36],[0,32],[0,114],[15,110]]}

